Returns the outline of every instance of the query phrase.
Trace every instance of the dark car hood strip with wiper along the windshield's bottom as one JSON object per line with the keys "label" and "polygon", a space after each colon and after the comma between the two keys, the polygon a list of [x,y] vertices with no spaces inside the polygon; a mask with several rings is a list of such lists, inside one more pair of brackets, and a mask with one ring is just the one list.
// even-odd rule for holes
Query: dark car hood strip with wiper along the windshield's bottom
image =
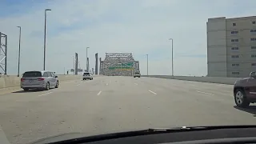
{"label": "dark car hood strip with wiper along the windshield's bottom", "polygon": [[[138,136],[145,134],[159,134],[166,132],[182,132],[188,130],[219,130],[219,129],[242,129],[242,128],[256,128],[256,125],[238,125],[238,126],[182,126],[182,127],[172,127],[172,128],[150,128],[146,130],[134,130],[118,133],[109,133],[109,134],[88,134],[88,133],[68,133],[68,134],[59,134],[53,137],[47,137],[39,139],[36,142],[31,142],[30,144],[43,144],[43,143],[54,143],[62,141],[82,142],[94,141],[102,138],[124,138],[127,136]],[[66,142],[67,143],[67,142]]]}

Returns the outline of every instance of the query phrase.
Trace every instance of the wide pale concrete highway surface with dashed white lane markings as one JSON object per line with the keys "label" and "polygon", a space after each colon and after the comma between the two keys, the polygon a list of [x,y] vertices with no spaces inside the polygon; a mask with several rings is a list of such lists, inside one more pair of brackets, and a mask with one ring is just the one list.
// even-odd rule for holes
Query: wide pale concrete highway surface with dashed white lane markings
{"label": "wide pale concrete highway surface with dashed white lane markings", "polygon": [[163,78],[95,77],[48,91],[1,94],[0,124],[11,143],[71,132],[256,124],[255,106],[238,109],[232,90]]}

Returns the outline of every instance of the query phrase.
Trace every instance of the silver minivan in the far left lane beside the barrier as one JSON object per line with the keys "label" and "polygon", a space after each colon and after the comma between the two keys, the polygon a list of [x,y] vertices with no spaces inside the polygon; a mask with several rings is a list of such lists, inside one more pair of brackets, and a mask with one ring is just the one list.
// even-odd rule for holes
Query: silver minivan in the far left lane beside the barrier
{"label": "silver minivan in the far left lane beside the barrier", "polygon": [[58,88],[58,76],[50,71],[26,71],[21,78],[21,87],[27,91],[30,89]]}

